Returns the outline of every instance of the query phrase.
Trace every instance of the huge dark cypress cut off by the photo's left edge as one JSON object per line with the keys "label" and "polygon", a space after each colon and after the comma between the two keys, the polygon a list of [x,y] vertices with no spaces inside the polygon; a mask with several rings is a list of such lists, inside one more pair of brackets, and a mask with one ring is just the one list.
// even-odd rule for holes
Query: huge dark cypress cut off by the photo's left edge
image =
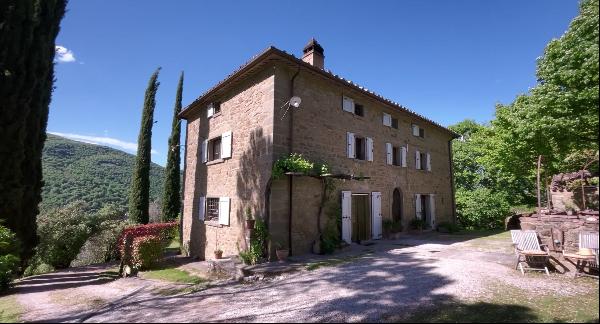
{"label": "huge dark cypress cut off by the photo's left edge", "polygon": [[66,5],[66,0],[0,3],[0,221],[21,241],[25,262],[37,244],[42,148]]}

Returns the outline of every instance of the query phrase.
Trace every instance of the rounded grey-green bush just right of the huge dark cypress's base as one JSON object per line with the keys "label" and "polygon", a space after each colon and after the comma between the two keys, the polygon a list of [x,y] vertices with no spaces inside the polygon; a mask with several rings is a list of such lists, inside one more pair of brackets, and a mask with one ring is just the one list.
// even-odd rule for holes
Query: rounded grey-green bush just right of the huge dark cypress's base
{"label": "rounded grey-green bush just right of the huge dark cypress's base", "polygon": [[81,202],[71,203],[38,216],[40,243],[37,254],[41,263],[67,268],[92,233],[93,214]]}

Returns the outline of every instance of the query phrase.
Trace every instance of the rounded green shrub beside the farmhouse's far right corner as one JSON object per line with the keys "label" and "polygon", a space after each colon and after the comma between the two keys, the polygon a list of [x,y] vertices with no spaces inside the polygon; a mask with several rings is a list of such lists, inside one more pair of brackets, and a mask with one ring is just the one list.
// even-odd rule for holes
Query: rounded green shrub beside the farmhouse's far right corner
{"label": "rounded green shrub beside the farmhouse's far right corner", "polygon": [[459,223],[470,229],[496,229],[504,226],[510,214],[510,204],[502,193],[487,188],[456,192],[456,213]]}

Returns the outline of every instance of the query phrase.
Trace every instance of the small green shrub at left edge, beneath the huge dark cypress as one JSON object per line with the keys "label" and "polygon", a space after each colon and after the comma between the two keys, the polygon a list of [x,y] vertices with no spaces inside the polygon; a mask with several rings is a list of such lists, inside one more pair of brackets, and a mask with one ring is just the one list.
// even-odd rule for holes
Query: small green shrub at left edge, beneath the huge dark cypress
{"label": "small green shrub at left edge, beneath the huge dark cypress", "polygon": [[19,244],[15,234],[0,225],[0,290],[8,288],[19,272]]}

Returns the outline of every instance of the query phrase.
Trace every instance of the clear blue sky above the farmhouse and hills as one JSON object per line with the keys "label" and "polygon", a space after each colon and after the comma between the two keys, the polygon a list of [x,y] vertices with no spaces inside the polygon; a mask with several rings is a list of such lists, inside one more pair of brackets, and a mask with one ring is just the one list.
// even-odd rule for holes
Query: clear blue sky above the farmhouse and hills
{"label": "clear blue sky above the farmhouse and hills", "polygon": [[[161,66],[153,161],[165,164],[180,71],[184,106],[269,45],[443,125],[489,121],[535,85],[536,58],[578,1],[70,1],[48,131],[135,152],[144,91]],[[57,56],[57,58],[59,58]]]}

